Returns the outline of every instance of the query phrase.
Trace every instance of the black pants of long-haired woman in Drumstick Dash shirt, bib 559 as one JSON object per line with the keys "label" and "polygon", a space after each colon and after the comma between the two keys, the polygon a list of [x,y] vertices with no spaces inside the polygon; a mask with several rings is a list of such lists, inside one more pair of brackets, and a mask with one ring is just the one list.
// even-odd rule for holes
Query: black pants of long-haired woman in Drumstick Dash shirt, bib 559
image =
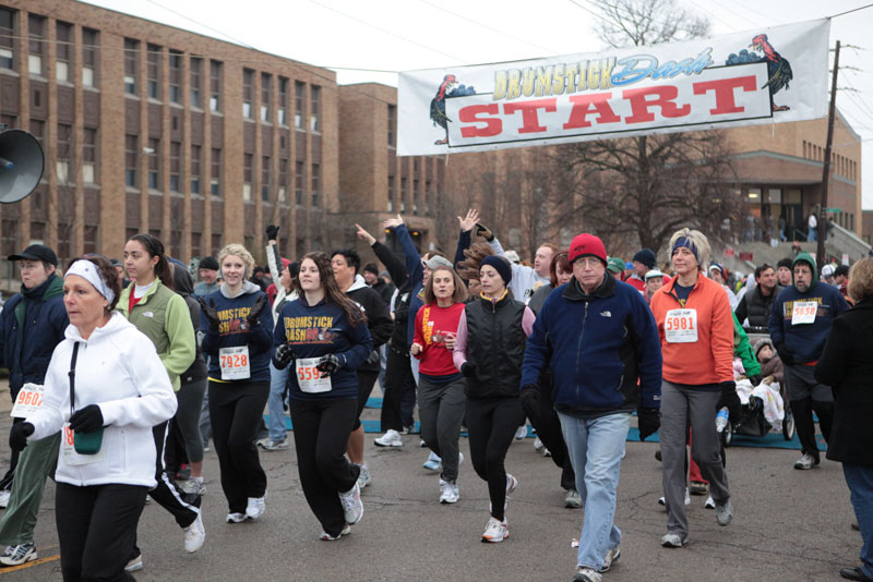
{"label": "black pants of long-haired woman in Drumstick Dash shirt, bib 559", "polygon": [[303,495],[324,531],[337,536],[346,524],[337,493],[351,489],[361,471],[345,456],[357,401],[291,399],[289,404]]}

